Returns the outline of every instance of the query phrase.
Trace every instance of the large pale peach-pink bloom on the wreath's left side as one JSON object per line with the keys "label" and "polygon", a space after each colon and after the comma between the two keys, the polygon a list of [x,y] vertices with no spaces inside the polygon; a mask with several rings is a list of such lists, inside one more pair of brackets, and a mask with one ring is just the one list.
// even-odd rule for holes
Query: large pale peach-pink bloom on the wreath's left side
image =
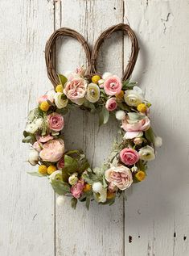
{"label": "large pale peach-pink bloom on the wreath's left side", "polygon": [[39,157],[43,161],[57,162],[64,154],[64,141],[63,140],[52,140],[43,144],[43,149],[39,153]]}

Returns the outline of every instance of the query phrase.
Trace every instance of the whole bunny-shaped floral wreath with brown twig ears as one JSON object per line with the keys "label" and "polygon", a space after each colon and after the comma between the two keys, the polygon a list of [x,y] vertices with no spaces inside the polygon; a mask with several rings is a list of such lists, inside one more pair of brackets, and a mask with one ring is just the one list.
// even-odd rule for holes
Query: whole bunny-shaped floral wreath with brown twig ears
{"label": "whole bunny-shaped floral wreath with brown twig ears", "polygon": [[[128,34],[132,44],[123,78],[107,72],[101,75],[96,70],[99,48],[114,31]],[[72,36],[82,44],[87,69],[81,67],[72,73],[56,74],[54,46],[60,36]],[[104,31],[92,52],[83,36],[66,27],[55,31],[47,41],[47,74],[55,89],[39,97],[38,106],[30,111],[23,142],[31,144],[28,161],[32,166],[39,165],[30,174],[49,179],[59,195],[57,204],[63,204],[64,196],[68,195],[72,208],[76,208],[78,201],[84,202],[87,208],[92,200],[111,205],[132,183],[146,178],[147,163],[155,158],[155,147],[162,144],[162,139],[154,135],[150,125],[150,102],[137,83],[130,81],[138,50],[134,31],[123,23]],[[109,115],[120,123],[117,142],[101,167],[92,169],[82,150],[68,150],[64,145],[64,115],[76,107],[98,113],[100,124],[106,124]]]}

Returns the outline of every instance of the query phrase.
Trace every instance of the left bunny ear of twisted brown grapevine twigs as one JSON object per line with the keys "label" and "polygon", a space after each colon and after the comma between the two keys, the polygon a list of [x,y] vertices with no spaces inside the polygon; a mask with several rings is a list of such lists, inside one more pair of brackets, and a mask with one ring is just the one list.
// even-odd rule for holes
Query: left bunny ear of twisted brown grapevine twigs
{"label": "left bunny ear of twisted brown grapevine twigs", "polygon": [[[45,46],[45,61],[46,61],[46,66],[47,66],[47,75],[48,78],[51,80],[51,83],[53,84],[53,86],[57,86],[60,82],[59,82],[59,78],[58,75],[55,71],[55,41],[57,40],[58,37],[60,36],[71,36],[73,38],[75,38],[76,40],[78,40],[80,42],[80,44],[82,44],[83,48],[84,48],[84,52],[86,54],[87,57],[87,61],[88,61],[88,69],[90,68],[90,63],[91,63],[91,52],[90,52],[90,48],[88,47],[88,44],[86,42],[86,40],[84,40],[84,37],[80,35],[80,33],[78,33],[75,30],[72,30],[68,27],[61,27],[60,29],[56,30],[51,37],[49,38],[49,40],[47,40],[46,46]],[[87,72],[89,72],[90,70],[87,70]]]}

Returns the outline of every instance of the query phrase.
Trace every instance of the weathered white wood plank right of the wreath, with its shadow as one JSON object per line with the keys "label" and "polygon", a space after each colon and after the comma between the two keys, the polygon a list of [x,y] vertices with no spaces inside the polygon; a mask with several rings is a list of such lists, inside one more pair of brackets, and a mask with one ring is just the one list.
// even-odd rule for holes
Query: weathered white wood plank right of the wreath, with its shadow
{"label": "weathered white wood plank right of the wreath, with its shadow", "polygon": [[188,1],[125,1],[125,19],[140,42],[134,79],[153,103],[163,146],[146,181],[125,204],[125,255],[187,256]]}

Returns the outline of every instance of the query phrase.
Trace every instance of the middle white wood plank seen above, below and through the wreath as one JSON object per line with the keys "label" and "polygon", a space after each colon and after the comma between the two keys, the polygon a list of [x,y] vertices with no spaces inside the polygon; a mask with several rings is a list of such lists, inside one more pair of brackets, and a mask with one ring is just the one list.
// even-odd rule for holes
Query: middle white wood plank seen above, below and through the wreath
{"label": "middle white wood plank seen above, below and through the wreath", "polygon": [[[122,21],[122,1],[62,1],[61,26],[72,27],[93,44],[105,28]],[[58,10],[57,12],[58,13]],[[102,15],[104,14],[104,15]],[[57,18],[56,18],[57,20]],[[59,22],[57,21],[59,26]],[[107,40],[99,57],[101,72],[114,71],[121,75],[122,39],[113,36]],[[64,40],[58,49],[58,68],[76,69],[84,64],[80,45],[74,40]],[[116,61],[115,61],[116,60]],[[65,141],[68,148],[82,148],[93,166],[99,166],[107,157],[113,137],[117,132],[116,124],[98,128],[97,116],[82,111],[68,117],[65,128]],[[92,204],[89,212],[84,205],[76,211],[69,205],[56,208],[56,255],[122,255],[123,254],[123,208],[122,200],[112,207]]]}

